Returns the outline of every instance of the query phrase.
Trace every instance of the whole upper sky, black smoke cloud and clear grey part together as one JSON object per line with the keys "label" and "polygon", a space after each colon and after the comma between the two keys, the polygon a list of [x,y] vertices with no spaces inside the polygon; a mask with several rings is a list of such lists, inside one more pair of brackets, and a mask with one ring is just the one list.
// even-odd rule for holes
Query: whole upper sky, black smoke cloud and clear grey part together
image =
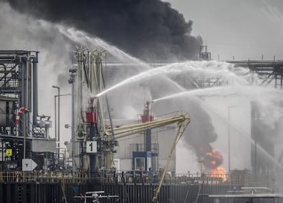
{"label": "whole upper sky, black smoke cloud and clear grey part together", "polygon": [[[21,12],[83,29],[144,59],[282,59],[280,0],[9,1]],[[201,36],[201,37],[200,37]]]}

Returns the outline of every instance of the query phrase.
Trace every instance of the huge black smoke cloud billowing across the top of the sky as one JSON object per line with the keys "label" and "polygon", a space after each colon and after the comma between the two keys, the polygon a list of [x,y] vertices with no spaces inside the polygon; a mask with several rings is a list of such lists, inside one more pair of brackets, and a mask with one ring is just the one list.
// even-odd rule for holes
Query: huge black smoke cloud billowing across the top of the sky
{"label": "huge black smoke cloud billowing across the top of the sky", "polygon": [[[5,1],[5,0],[2,0]],[[76,27],[142,59],[197,59],[192,21],[160,0],[6,0],[36,18]]]}

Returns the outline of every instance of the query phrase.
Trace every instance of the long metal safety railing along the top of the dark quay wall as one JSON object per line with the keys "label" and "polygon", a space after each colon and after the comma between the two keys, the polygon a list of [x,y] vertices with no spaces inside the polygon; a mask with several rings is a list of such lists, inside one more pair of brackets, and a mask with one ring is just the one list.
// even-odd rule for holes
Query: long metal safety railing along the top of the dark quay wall
{"label": "long metal safety railing along the top of the dark quay wall", "polygon": [[[103,184],[120,183],[158,183],[161,174],[145,171],[118,172],[103,170],[95,174],[87,172],[53,172],[53,171],[0,171],[0,182],[62,182],[78,183],[99,181]],[[274,185],[274,177],[253,174],[174,174],[167,173],[164,184],[190,185]]]}

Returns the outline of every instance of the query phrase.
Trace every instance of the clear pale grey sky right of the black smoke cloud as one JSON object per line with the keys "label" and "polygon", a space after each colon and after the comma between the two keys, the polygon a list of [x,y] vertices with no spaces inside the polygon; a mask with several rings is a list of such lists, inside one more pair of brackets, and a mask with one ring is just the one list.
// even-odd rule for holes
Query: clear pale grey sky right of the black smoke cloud
{"label": "clear pale grey sky right of the black smoke cloud", "polygon": [[283,59],[282,0],[167,0],[202,36],[213,59]]}

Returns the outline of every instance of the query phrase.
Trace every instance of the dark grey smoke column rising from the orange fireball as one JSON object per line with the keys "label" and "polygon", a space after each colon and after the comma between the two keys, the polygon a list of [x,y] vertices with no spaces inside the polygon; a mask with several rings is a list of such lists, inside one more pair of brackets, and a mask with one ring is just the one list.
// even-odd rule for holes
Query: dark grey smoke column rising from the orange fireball
{"label": "dark grey smoke column rising from the orange fireball", "polygon": [[[175,94],[175,87],[167,84],[165,79],[152,77],[150,83],[152,98],[163,98],[166,95]],[[164,87],[166,84],[166,87]],[[184,94],[185,95],[185,94]],[[211,144],[217,140],[217,133],[211,117],[202,106],[202,100],[195,97],[182,97],[162,100],[162,105],[152,103],[154,113],[173,112],[183,109],[190,115],[191,122],[183,135],[183,144],[196,153],[198,161],[202,161],[206,170],[213,170],[223,163],[223,157],[217,150],[213,150]]]}

